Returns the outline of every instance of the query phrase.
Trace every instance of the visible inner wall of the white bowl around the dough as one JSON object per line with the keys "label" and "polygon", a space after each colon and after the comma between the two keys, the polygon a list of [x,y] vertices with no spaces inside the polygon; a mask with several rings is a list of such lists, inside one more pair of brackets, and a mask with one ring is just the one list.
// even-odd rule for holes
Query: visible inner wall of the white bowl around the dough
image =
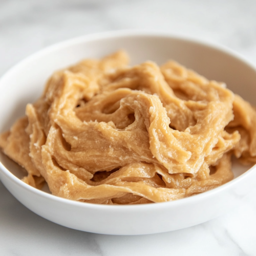
{"label": "visible inner wall of the white bowl around the dough", "polygon": [[[82,37],[50,47],[32,55],[12,68],[0,80],[0,132],[8,130],[12,123],[25,114],[26,104],[41,94],[50,75],[83,58],[97,58],[126,50],[131,64],[153,60],[159,65],[169,59],[180,62],[208,79],[223,81],[227,87],[254,104],[256,72],[240,58],[221,49],[212,48],[197,41],[160,35],[103,35]],[[0,153],[0,161],[16,177],[26,172]],[[234,161],[235,177],[250,166]],[[49,190],[45,187],[45,191]]]}

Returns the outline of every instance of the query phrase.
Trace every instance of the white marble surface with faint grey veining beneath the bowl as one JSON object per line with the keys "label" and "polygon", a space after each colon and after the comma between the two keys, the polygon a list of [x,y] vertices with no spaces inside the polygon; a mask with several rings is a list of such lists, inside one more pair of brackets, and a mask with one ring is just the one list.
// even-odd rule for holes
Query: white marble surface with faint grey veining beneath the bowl
{"label": "white marble surface with faint grey veining beneath the bowl", "polygon": [[[256,65],[254,0],[0,0],[0,75],[74,36],[153,29],[218,42]],[[256,86],[256,83],[255,83]],[[0,255],[256,255],[256,188],[226,215],[183,230],[106,236],[33,214],[0,182]]]}

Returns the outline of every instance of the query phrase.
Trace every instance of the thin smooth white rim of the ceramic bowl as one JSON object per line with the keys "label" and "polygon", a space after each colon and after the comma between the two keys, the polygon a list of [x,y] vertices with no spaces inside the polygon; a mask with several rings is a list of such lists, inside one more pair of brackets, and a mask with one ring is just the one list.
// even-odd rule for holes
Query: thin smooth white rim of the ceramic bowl
{"label": "thin smooth white rim of the ceramic bowl", "polygon": [[[16,69],[19,67],[25,65],[27,62],[30,62],[33,59],[39,58],[41,56],[44,56],[48,53],[54,52],[55,50],[59,50],[61,48],[66,48],[69,46],[72,46],[74,44],[79,44],[82,42],[89,42],[99,39],[108,39],[108,38],[125,38],[125,37],[158,37],[158,38],[169,38],[169,39],[177,39],[186,41],[189,43],[193,43],[199,46],[207,47],[213,50],[217,50],[219,52],[222,52],[226,55],[229,55],[231,57],[237,58],[241,62],[243,62],[246,66],[251,68],[256,73],[256,66],[253,65],[252,62],[247,60],[245,57],[243,57],[241,54],[237,53],[234,50],[229,49],[228,47],[222,46],[217,44],[216,42],[209,42],[208,40],[200,39],[198,37],[194,36],[187,36],[182,34],[175,34],[175,33],[168,33],[168,32],[159,32],[159,31],[152,31],[152,30],[119,30],[119,31],[108,31],[108,32],[99,32],[99,33],[93,33],[83,36],[74,37],[68,40],[57,42],[56,44],[53,44],[51,46],[48,46],[46,48],[43,48],[28,57],[18,61],[12,68],[7,70],[2,77],[0,78],[0,89],[2,83],[4,83],[5,79],[8,78],[8,76],[15,72]],[[240,175],[237,178],[234,178],[233,180],[217,187],[211,190],[208,190],[204,193],[197,194],[191,197],[182,198],[179,200],[174,201],[168,201],[168,202],[161,202],[161,203],[151,203],[151,204],[139,204],[139,205],[103,205],[103,204],[93,204],[93,203],[85,203],[85,202],[79,202],[74,201],[66,198],[61,198],[58,196],[54,196],[52,194],[46,193],[45,191],[39,190],[37,188],[34,188],[27,183],[23,182],[19,178],[17,178],[14,174],[12,174],[0,161],[0,172],[3,173],[10,181],[16,183],[19,187],[22,187],[29,191],[30,193],[35,193],[39,197],[47,198],[52,201],[57,201],[59,203],[66,203],[72,206],[81,207],[81,208],[91,208],[91,209],[102,209],[102,210],[114,210],[117,209],[120,211],[126,211],[127,208],[129,210],[141,210],[141,209],[161,209],[166,207],[176,207],[183,204],[194,204],[196,202],[199,202],[200,200],[205,199],[205,197],[211,197],[215,194],[221,193],[221,191],[226,190],[232,186],[234,186],[236,183],[244,180],[247,178],[247,176],[251,175],[252,172],[254,172],[254,169],[256,168],[256,164],[250,167],[245,173]]]}

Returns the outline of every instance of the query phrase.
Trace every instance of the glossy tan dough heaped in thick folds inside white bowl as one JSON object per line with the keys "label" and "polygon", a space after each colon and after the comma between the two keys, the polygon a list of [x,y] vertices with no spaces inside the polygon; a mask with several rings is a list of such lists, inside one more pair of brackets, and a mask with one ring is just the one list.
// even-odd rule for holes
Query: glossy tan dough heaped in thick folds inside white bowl
{"label": "glossy tan dough heaped in thick folds inside white bowl", "polygon": [[224,83],[128,62],[119,51],[53,74],[0,137],[24,182],[83,202],[165,202],[230,181],[232,154],[256,162],[256,112]]}

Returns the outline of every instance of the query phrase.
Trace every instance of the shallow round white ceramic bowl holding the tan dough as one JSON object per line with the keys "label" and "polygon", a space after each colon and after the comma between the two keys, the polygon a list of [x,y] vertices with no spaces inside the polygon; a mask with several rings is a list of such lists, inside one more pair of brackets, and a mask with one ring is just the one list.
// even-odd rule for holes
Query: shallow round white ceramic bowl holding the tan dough
{"label": "shallow round white ceramic bowl holding the tan dough", "polygon": [[[255,104],[256,70],[230,50],[177,36],[110,32],[83,36],[42,50],[8,71],[0,80],[0,132],[42,92],[51,73],[88,57],[101,57],[118,49],[129,52],[132,64],[175,59],[209,79],[224,81],[233,92]],[[174,202],[146,205],[97,205],[58,198],[37,190],[20,178],[18,165],[0,155],[0,178],[21,203],[60,225],[104,234],[149,234],[193,226],[223,214],[256,184],[255,167],[233,167],[235,179],[218,188]],[[247,172],[246,172],[247,171]]]}

